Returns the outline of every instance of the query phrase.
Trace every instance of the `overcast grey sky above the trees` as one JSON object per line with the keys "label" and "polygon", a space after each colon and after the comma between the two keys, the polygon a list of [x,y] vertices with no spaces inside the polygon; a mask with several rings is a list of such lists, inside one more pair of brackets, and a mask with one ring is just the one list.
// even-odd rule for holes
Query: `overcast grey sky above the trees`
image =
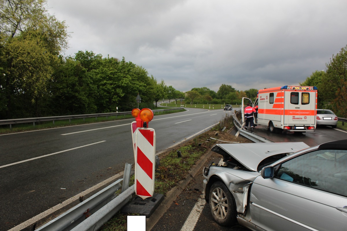
{"label": "overcast grey sky above the trees", "polygon": [[346,0],[47,0],[65,55],[131,61],[180,91],[298,85],[347,45]]}

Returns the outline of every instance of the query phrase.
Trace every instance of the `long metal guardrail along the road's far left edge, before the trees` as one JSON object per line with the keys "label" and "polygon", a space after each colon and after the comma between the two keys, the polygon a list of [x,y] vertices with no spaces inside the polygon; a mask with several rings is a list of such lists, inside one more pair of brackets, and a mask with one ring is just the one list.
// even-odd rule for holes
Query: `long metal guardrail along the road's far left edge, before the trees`
{"label": "long metal guardrail along the road's far left edge, before the trees", "polygon": [[[176,107],[169,109],[158,109],[153,110],[155,115],[156,112],[165,112],[172,111],[177,109],[182,109],[184,107]],[[99,114],[85,114],[85,115],[69,115],[69,116],[50,116],[50,117],[36,117],[36,118],[23,118],[23,119],[1,119],[0,125],[11,125],[11,124],[20,124],[20,123],[35,123],[35,122],[44,122],[44,121],[57,121],[63,119],[81,119],[81,118],[92,118],[92,117],[108,117],[108,116],[119,116],[119,115],[131,115],[131,112],[112,112],[112,113],[99,113]]]}

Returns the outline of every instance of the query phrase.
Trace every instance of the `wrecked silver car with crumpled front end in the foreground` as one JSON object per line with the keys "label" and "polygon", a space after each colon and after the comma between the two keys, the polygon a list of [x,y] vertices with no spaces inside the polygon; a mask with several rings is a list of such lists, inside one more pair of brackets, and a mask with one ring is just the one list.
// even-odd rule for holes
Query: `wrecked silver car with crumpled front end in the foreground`
{"label": "wrecked silver car with crumpled front end in the foreground", "polygon": [[224,164],[203,170],[204,195],[221,225],[254,231],[346,230],[347,140],[216,144]]}

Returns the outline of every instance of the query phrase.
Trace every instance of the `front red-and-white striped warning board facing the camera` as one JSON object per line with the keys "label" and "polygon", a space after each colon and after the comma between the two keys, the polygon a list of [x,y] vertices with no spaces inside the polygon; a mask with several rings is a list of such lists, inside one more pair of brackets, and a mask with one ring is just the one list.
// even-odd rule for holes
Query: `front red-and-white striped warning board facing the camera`
{"label": "front red-and-white striped warning board facing the camera", "polygon": [[135,193],[146,199],[154,193],[155,131],[139,127],[135,137]]}

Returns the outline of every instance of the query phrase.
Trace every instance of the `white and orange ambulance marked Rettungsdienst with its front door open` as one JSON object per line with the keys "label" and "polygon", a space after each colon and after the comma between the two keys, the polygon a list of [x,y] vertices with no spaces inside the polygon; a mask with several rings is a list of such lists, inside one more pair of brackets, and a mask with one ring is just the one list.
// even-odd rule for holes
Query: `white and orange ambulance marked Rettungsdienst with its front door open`
{"label": "white and orange ambulance marked Rettungsdienst with its front door open", "polygon": [[242,99],[244,108],[249,103],[257,110],[255,125],[268,126],[270,132],[293,131],[303,133],[316,128],[317,88],[308,86],[283,86],[258,91],[254,102]]}

